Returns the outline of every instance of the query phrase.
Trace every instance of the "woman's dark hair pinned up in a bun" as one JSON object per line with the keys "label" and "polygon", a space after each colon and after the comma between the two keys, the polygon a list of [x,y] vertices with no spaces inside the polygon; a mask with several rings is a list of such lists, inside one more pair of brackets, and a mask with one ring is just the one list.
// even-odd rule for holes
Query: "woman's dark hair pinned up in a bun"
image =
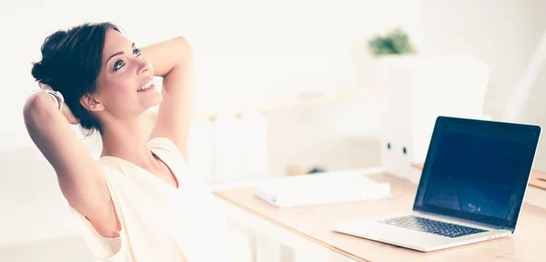
{"label": "woman's dark hair pinned up in a bun", "polygon": [[80,98],[96,91],[96,77],[102,66],[106,32],[119,27],[111,23],[86,23],[59,30],[45,38],[42,61],[34,63],[32,76],[65,97],[66,106],[91,135],[102,125],[80,104]]}

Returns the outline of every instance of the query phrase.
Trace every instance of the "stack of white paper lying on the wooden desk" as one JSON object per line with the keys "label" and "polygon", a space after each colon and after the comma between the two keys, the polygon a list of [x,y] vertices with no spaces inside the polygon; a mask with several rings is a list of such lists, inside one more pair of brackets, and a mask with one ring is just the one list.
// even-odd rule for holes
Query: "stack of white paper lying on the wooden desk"
{"label": "stack of white paper lying on the wooden desk", "polygon": [[388,198],[389,183],[361,174],[321,174],[273,178],[254,188],[259,198],[276,207],[304,207]]}

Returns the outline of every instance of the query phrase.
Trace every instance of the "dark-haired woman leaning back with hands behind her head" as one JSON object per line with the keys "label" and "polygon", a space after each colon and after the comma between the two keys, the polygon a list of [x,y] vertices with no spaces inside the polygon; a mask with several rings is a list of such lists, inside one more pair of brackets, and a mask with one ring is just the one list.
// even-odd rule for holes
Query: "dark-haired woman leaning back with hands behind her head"
{"label": "dark-haired woman leaning back with hands behind her head", "polygon": [[[84,24],[48,36],[41,51],[32,75],[45,92],[26,101],[25,125],[96,257],[229,261],[227,223],[184,161],[192,115],[185,38],[138,49],[116,25]],[[154,76],[163,77],[161,92]],[[157,105],[145,137],[139,116]],[[69,123],[100,133],[97,161]]]}

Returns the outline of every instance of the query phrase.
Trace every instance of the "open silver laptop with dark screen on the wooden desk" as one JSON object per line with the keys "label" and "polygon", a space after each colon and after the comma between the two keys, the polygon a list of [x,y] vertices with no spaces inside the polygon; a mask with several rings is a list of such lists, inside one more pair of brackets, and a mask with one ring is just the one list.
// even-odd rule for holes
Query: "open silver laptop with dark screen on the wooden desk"
{"label": "open silver laptop with dark screen on the wooden desk", "polygon": [[540,136],[540,126],[439,116],[412,210],[330,227],[423,252],[511,236]]}

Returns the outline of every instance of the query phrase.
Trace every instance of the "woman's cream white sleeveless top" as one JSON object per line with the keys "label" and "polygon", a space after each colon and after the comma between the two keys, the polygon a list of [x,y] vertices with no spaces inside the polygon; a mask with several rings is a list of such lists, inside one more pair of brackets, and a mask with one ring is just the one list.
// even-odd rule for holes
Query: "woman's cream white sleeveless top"
{"label": "woman's cream white sleeveless top", "polygon": [[178,188],[115,156],[96,161],[121,224],[120,237],[102,237],[71,207],[91,251],[101,261],[235,261],[225,216],[177,146],[163,137],[148,142],[171,169]]}

